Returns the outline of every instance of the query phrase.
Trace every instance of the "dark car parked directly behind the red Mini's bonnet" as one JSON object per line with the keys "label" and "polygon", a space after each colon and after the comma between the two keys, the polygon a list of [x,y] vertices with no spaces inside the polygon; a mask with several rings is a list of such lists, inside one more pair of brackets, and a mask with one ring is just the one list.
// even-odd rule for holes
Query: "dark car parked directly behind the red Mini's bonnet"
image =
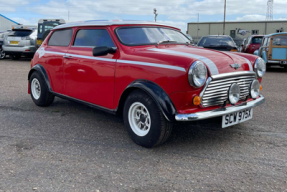
{"label": "dark car parked directly behind the red Mini's bonnet", "polygon": [[238,51],[236,43],[228,35],[210,35],[202,37],[197,43],[197,46],[218,51]]}

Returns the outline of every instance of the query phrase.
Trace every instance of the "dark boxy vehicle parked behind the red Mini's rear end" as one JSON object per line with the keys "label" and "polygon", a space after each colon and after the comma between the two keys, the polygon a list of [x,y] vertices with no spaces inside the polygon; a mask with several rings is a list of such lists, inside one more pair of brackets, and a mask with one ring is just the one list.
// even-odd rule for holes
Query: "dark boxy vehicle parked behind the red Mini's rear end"
{"label": "dark boxy vehicle parked behind the red Mini's rear end", "polygon": [[38,21],[37,47],[41,46],[43,40],[49,35],[51,29],[65,23],[64,19],[40,19]]}

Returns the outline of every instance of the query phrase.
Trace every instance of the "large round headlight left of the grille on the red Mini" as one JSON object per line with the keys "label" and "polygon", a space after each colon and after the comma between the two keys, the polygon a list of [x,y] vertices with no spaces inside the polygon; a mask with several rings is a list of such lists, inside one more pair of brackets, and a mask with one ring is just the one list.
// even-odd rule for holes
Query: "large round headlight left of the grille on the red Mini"
{"label": "large round headlight left of the grille on the red Mini", "polygon": [[194,62],[188,71],[188,81],[191,86],[202,87],[207,78],[207,68],[201,61]]}

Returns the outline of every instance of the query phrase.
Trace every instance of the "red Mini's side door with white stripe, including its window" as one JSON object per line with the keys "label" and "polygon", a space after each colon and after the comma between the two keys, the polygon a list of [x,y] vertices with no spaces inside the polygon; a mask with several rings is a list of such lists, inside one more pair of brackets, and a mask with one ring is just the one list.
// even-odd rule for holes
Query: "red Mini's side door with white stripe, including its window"
{"label": "red Mini's side door with white stripe, including its window", "polygon": [[118,53],[93,56],[93,48],[116,47],[103,27],[82,27],[75,32],[65,59],[65,93],[105,108],[113,108],[114,74]]}

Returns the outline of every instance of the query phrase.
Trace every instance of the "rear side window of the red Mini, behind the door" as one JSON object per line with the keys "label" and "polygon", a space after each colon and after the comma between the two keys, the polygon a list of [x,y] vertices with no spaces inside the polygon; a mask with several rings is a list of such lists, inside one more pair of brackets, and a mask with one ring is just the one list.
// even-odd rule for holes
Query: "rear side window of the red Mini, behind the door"
{"label": "rear side window of the red Mini, behind the door", "polygon": [[50,46],[69,46],[73,35],[72,29],[54,31],[49,39]]}

